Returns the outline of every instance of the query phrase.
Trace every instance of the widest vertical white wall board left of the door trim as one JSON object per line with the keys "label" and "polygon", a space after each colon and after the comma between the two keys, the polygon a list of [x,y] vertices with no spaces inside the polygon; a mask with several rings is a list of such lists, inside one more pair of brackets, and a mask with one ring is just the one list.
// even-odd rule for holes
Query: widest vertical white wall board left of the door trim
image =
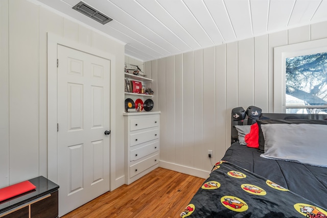
{"label": "widest vertical white wall board left of the door trim", "polygon": [[[25,18],[17,14],[25,14]],[[38,23],[34,22],[38,20],[38,8],[27,1],[9,1],[8,19],[9,175],[12,182],[39,173],[39,66],[35,61],[38,60],[39,34]]]}

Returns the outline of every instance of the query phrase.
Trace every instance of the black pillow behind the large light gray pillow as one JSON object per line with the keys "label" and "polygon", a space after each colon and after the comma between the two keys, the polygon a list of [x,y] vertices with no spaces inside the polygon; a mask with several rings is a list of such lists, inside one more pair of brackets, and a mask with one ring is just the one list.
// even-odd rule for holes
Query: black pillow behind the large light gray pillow
{"label": "black pillow behind the large light gray pillow", "polygon": [[327,120],[322,119],[257,119],[259,127],[259,151],[265,152],[265,138],[261,125],[265,124],[321,124],[327,125]]}

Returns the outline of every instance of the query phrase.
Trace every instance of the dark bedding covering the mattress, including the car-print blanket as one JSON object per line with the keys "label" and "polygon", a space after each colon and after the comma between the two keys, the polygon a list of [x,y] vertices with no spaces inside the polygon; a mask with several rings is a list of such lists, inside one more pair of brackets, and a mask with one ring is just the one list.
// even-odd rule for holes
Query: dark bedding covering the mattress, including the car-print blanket
{"label": "dark bedding covering the mattress, including the car-print blanket", "polygon": [[260,154],[232,144],[181,217],[327,217],[327,168]]}

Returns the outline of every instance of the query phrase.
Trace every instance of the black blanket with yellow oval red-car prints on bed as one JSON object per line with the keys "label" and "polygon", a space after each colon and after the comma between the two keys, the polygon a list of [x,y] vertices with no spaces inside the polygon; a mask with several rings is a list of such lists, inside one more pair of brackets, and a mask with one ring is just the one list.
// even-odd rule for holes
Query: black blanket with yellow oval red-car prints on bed
{"label": "black blanket with yellow oval red-car prints on bed", "polygon": [[326,209],[246,169],[219,161],[183,217],[327,218]]}

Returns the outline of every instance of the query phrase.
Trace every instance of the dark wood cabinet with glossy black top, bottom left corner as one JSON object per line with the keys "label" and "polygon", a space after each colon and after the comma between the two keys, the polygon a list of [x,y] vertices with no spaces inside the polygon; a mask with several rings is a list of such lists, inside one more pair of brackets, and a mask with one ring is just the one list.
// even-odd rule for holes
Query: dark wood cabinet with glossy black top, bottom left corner
{"label": "dark wood cabinet with glossy black top, bottom left corner", "polygon": [[58,217],[59,185],[43,176],[29,180],[36,188],[17,197],[0,202],[0,217],[55,218]]}

